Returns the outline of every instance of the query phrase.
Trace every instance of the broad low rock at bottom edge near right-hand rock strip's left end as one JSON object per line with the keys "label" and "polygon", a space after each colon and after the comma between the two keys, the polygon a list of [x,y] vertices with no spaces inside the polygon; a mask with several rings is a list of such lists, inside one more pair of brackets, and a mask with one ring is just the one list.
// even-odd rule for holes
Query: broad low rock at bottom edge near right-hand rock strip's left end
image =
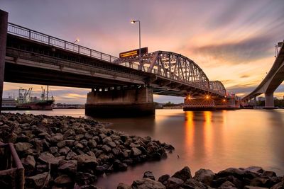
{"label": "broad low rock at bottom edge near right-hand rock strip's left end", "polygon": [[142,178],[141,180],[133,181],[131,188],[133,189],[165,189],[165,185],[158,181],[153,181],[150,178]]}

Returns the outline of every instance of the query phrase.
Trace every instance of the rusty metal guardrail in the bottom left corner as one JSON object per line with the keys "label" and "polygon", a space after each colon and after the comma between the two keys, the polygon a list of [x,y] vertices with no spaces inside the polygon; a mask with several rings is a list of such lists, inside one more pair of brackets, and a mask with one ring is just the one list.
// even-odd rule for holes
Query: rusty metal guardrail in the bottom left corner
{"label": "rusty metal guardrail in the bottom left corner", "polygon": [[23,189],[24,168],[13,144],[0,142],[0,148],[4,151],[0,156],[0,188]]}

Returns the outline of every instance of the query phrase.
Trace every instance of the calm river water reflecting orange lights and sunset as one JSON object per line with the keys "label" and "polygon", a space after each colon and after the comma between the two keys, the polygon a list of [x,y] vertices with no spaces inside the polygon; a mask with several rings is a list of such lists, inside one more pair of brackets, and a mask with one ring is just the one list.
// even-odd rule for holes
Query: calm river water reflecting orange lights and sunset
{"label": "calm river water reflecting orange lights and sunset", "polygon": [[[18,113],[84,116],[84,110]],[[284,174],[284,110],[156,110],[155,118],[97,120],[111,122],[107,126],[111,129],[150,135],[175,147],[168,159],[129,167],[128,171],[99,178],[97,185],[103,188],[116,188],[120,182],[131,184],[145,171],[153,171],[158,178],[165,173],[173,174],[183,166],[189,166],[192,173],[199,168],[217,172],[229,167],[262,166],[280,176]]]}

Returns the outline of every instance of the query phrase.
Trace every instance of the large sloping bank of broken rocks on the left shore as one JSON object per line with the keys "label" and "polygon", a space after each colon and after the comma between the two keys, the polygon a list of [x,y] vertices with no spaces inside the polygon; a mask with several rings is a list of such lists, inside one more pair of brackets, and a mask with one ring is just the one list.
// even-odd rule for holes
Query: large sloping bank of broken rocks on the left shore
{"label": "large sloping bank of broken rocks on the left shore", "polygon": [[14,144],[25,168],[25,188],[97,188],[97,176],[158,161],[174,149],[91,119],[18,113],[1,113],[0,142]]}

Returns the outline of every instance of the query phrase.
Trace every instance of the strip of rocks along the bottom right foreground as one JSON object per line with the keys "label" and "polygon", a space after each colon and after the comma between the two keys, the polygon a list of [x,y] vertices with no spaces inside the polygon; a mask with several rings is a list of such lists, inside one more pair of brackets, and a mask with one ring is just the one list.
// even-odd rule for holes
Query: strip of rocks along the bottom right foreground
{"label": "strip of rocks along the bottom right foreground", "polygon": [[155,181],[151,171],[146,171],[141,180],[133,181],[132,185],[119,183],[117,189],[283,189],[284,177],[276,176],[273,171],[265,171],[261,167],[227,168],[219,173],[209,169],[195,172],[192,177],[190,168],[185,166],[182,170],[170,176],[165,174]]}

